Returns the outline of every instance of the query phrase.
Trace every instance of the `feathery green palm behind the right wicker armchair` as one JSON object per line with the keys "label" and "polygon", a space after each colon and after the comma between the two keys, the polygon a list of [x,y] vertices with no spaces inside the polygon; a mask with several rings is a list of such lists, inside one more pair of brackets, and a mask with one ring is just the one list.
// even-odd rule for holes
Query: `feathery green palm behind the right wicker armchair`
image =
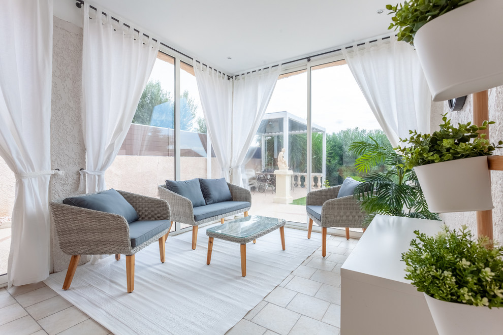
{"label": "feathery green palm behind the right wicker armchair", "polygon": [[370,141],[353,142],[349,147],[358,156],[357,171],[364,174],[354,193],[367,213],[364,224],[368,225],[376,214],[440,220],[429,211],[416,173],[406,168],[403,157],[391,144],[369,138]]}

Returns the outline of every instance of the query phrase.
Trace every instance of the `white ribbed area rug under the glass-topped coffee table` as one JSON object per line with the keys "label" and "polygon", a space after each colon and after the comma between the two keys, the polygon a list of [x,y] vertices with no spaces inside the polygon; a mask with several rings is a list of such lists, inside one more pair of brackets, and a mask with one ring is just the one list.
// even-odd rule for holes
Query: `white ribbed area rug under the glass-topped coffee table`
{"label": "white ribbed area rug under the glass-topped coffee table", "polygon": [[[205,227],[206,228],[206,227]],[[116,335],[224,334],[255,307],[319,246],[317,234],[279,229],[246,246],[246,277],[241,277],[237,243],[215,239],[206,265],[208,237],[199,229],[196,250],[192,233],[169,237],[166,262],[153,243],[135,256],[135,290],[126,288],[125,257],[77,267],[70,289],[61,289],[66,271],[45,283]]]}

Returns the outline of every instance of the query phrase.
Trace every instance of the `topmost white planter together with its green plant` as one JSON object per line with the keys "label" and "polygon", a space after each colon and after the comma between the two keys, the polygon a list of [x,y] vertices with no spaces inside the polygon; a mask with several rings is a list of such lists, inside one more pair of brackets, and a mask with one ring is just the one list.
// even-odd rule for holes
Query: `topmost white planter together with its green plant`
{"label": "topmost white planter together with its green plant", "polygon": [[502,1],[410,0],[386,8],[389,29],[416,47],[433,101],[503,84]]}

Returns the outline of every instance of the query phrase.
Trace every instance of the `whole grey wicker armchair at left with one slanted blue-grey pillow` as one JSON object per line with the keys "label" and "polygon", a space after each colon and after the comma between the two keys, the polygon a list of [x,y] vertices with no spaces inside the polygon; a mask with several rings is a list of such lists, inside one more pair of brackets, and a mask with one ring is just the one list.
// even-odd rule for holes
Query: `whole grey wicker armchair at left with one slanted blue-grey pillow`
{"label": "whole grey wicker armchair at left with one slanted blue-grey pillow", "polygon": [[135,289],[135,254],[159,241],[161,262],[171,229],[165,200],[116,191],[83,194],[50,202],[61,250],[71,255],[63,289],[70,288],[81,255],[125,255],[128,292]]}

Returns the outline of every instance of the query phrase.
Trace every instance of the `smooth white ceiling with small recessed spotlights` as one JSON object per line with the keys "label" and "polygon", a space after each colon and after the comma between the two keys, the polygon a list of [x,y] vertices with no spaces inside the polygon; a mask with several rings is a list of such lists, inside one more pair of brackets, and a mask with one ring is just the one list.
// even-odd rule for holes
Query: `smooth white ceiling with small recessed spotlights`
{"label": "smooth white ceiling with small recessed spotlights", "polygon": [[[390,33],[388,11],[376,13],[387,3],[389,0],[89,2],[228,74]],[[80,26],[81,11],[73,0],[54,0],[54,15]]]}

